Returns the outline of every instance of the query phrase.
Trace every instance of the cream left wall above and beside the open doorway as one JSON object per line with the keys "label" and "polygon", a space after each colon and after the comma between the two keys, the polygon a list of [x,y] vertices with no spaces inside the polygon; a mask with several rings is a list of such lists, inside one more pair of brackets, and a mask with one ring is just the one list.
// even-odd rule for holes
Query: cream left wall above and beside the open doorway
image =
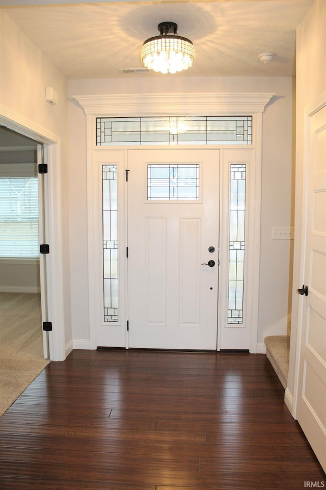
{"label": "cream left wall above and beside the open doorway", "polygon": [[[38,128],[55,134],[60,140],[62,209],[68,209],[68,130],[67,81],[26,35],[0,10],[0,115],[18,118],[19,123],[37,132]],[[58,93],[58,104],[45,100],[45,88]],[[69,220],[62,213],[63,297],[66,344],[71,340]]]}

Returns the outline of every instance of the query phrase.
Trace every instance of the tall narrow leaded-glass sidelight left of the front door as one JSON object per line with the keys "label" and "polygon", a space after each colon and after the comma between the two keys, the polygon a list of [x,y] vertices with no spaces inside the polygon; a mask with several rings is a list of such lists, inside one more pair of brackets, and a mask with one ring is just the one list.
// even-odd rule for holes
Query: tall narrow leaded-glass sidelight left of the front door
{"label": "tall narrow leaded-glass sidelight left of the front door", "polygon": [[117,165],[102,165],[104,322],[118,322]]}

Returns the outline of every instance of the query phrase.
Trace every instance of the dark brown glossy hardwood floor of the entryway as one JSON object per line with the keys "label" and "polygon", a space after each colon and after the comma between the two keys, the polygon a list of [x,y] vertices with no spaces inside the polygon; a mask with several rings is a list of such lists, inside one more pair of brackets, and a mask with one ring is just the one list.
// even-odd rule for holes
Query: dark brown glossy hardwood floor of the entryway
{"label": "dark brown glossy hardwood floor of the entryway", "polygon": [[261,354],[75,350],[0,418],[2,490],[301,490],[324,481]]}

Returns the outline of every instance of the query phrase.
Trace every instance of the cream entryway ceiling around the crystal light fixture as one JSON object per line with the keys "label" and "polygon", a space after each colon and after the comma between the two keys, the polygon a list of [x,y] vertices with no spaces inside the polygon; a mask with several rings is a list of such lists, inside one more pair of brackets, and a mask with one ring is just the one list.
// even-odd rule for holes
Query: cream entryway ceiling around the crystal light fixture
{"label": "cream entryway ceiling around the crystal light fixture", "polygon": [[[295,30],[313,0],[0,0],[5,13],[68,79],[176,76],[122,74],[142,68],[143,42],[173,21],[196,48],[178,76],[291,76]],[[37,5],[35,5],[37,4]],[[263,64],[260,53],[274,61]]]}

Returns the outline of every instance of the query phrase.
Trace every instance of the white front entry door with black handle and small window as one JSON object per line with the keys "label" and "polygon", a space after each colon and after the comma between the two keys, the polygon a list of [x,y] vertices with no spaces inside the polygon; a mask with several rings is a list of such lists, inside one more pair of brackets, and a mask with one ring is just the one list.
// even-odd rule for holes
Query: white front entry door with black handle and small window
{"label": "white front entry door with black handle and small window", "polygon": [[213,149],[128,151],[131,348],[216,349],[219,166]]}

